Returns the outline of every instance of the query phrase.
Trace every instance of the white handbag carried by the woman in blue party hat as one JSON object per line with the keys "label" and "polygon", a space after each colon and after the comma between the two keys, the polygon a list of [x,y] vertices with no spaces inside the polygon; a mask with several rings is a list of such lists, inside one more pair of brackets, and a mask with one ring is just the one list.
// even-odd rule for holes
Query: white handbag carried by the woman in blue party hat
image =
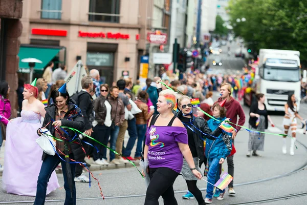
{"label": "white handbag carried by the woman in blue party hat", "polygon": [[56,140],[51,137],[52,135],[50,131],[46,128],[42,129],[41,132],[40,137],[35,140],[36,143],[46,154],[55,155]]}

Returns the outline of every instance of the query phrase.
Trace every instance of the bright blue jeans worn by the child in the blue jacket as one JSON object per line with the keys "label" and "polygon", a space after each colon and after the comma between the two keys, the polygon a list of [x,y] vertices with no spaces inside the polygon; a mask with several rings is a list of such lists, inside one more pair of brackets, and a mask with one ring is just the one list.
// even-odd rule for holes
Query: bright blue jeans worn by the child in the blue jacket
{"label": "bright blue jeans worn by the child in the blue jacket", "polygon": [[[208,182],[212,183],[213,185],[215,184],[215,179],[218,177],[220,178],[220,173],[218,172],[218,168],[220,168],[220,162],[219,158],[209,158],[209,170],[207,174]],[[218,176],[217,176],[218,175]],[[213,185],[210,185],[210,183],[207,183],[207,194],[206,198],[213,198]],[[225,189],[220,191],[220,193],[225,192]]]}

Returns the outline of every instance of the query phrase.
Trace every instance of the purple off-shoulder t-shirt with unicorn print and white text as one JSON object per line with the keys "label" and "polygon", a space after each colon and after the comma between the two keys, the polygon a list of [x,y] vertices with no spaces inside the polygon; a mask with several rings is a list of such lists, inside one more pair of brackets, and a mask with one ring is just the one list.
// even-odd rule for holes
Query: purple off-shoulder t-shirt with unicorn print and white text
{"label": "purple off-shoulder t-shirt with unicorn print and white text", "polygon": [[149,167],[167,167],[180,173],[183,155],[178,142],[188,144],[185,128],[154,125],[148,127],[145,145],[148,146]]}

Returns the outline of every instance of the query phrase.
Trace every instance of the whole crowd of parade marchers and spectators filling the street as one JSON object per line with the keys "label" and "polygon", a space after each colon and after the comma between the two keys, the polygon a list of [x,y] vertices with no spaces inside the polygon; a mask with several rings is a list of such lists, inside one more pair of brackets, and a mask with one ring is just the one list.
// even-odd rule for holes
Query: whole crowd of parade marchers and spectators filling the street
{"label": "whole crowd of parade marchers and spectators filling the street", "polygon": [[[247,73],[222,76],[194,72],[183,74],[181,79],[163,73],[162,79],[148,78],[143,84],[139,80],[133,84],[131,78],[125,78],[107,85],[100,84],[99,71],[93,69],[82,78],[82,90],[70,96],[62,79],[65,68],[53,72],[52,68],[50,63],[43,78],[18,85],[16,92],[22,93],[23,100],[21,104],[18,100],[21,117],[15,119],[9,120],[9,85],[0,83],[0,148],[5,139],[6,163],[2,169],[7,193],[36,196],[34,204],[43,204],[46,194],[59,187],[54,171],[61,163],[64,204],[75,204],[75,182],[90,181],[82,170],[91,166],[85,156],[92,156],[97,165],[140,160],[142,173],[150,180],[145,204],[158,204],[160,196],[164,204],[177,204],[172,185],[179,174],[189,190],[183,198],[195,197],[198,204],[212,203],[213,197],[224,199],[225,190],[215,189],[212,184],[220,179],[225,160],[228,173],[234,177],[234,141],[246,118],[235,98],[242,88],[237,82]],[[61,79],[53,83],[55,73]],[[215,102],[212,91],[220,92]],[[193,108],[192,98],[199,98],[200,110]],[[263,132],[269,122],[274,124],[266,111],[265,95],[259,93],[256,98],[250,108],[249,125]],[[285,111],[284,132],[287,134],[291,128],[290,154],[294,155],[295,117],[303,120],[296,112],[294,95],[289,97]],[[220,128],[224,123],[231,123],[234,129],[225,132]],[[43,153],[36,144],[36,139],[47,132],[45,129],[55,140],[55,155]],[[129,138],[124,143],[126,131]],[[225,140],[227,137],[231,140]],[[256,151],[264,150],[264,137],[250,132],[248,157],[259,156]],[[105,146],[110,148],[108,155]],[[132,153],[134,147],[136,152]],[[282,152],[286,154],[285,147],[286,144]],[[15,157],[16,153],[19,157]],[[200,169],[202,164],[206,166],[205,173]],[[203,176],[208,180],[205,199],[196,186]],[[233,180],[228,193],[235,194]]]}

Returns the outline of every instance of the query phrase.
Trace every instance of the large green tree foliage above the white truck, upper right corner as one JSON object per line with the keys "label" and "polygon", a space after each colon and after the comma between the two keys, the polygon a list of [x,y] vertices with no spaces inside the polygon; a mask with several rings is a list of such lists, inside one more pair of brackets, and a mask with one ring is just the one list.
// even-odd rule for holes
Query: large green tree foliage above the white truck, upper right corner
{"label": "large green tree foliage above the white truck, upper right corner", "polygon": [[[298,50],[307,63],[306,0],[230,0],[228,10],[234,33],[248,48]],[[245,22],[236,22],[243,17]]]}

